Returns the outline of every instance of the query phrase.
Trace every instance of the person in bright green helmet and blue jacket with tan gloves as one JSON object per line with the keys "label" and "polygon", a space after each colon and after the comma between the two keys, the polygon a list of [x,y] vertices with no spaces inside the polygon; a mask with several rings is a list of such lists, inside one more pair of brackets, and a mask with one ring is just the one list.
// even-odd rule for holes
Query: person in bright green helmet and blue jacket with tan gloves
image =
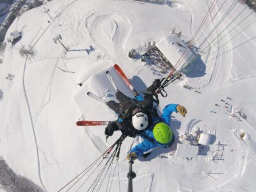
{"label": "person in bright green helmet and blue jacket with tan gloves", "polygon": [[154,124],[150,129],[141,134],[141,137],[144,139],[143,142],[131,149],[131,152],[127,154],[127,160],[135,160],[138,156],[143,156],[145,152],[152,148],[171,147],[175,139],[172,129],[169,126],[170,116],[173,111],[176,113],[179,112],[182,116],[185,116],[187,113],[186,108],[179,104],[168,104],[165,106],[161,117],[154,118]]}

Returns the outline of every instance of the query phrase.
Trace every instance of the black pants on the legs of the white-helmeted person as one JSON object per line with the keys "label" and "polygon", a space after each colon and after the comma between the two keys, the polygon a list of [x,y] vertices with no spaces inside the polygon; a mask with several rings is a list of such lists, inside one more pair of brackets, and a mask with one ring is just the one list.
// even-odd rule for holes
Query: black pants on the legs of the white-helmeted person
{"label": "black pants on the legs of the white-helmeted person", "polygon": [[115,100],[109,100],[107,102],[107,105],[110,109],[112,109],[113,111],[115,111],[116,113],[122,113],[122,103],[131,100],[130,97],[127,97],[124,93],[117,91],[116,92],[116,99],[119,100],[120,103],[115,102]]}

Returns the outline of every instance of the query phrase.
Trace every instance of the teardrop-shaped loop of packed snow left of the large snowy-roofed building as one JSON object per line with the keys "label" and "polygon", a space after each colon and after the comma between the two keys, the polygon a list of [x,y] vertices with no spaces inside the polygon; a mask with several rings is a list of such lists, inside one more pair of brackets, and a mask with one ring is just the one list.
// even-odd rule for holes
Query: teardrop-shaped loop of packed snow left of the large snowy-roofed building
{"label": "teardrop-shaped loop of packed snow left of the large snowy-roofed building", "polygon": [[88,17],[86,28],[93,42],[114,63],[131,63],[125,54],[125,44],[131,33],[132,20],[117,12],[95,12]]}

